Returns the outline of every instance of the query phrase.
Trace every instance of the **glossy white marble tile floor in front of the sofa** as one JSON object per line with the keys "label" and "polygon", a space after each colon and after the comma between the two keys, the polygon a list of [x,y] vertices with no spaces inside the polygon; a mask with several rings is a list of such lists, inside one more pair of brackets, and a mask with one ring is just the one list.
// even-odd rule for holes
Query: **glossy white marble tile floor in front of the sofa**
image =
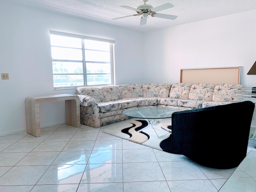
{"label": "glossy white marble tile floor in front of the sofa", "polygon": [[[26,132],[0,137],[0,191],[217,192],[236,169],[206,168],[102,128],[63,124],[42,128],[38,138]],[[249,140],[248,152],[254,144]]]}

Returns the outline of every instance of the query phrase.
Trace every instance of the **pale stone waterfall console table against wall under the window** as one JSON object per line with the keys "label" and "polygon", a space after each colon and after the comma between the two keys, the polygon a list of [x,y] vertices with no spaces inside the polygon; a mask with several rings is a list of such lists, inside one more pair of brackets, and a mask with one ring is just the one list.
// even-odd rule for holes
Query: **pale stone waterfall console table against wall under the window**
{"label": "pale stone waterfall console table against wall under the window", "polygon": [[27,132],[35,137],[41,135],[39,105],[42,102],[65,100],[66,124],[80,127],[80,99],[77,95],[57,94],[27,97],[25,99]]}

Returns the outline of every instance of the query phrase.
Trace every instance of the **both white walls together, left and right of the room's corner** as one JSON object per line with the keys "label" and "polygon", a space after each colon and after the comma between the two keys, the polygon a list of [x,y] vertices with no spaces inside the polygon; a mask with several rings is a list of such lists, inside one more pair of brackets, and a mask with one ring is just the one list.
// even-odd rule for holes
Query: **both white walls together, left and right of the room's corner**
{"label": "both white walls together, left and right of the room's corner", "polygon": [[[28,96],[53,90],[49,30],[116,40],[116,84],[179,82],[180,68],[242,66],[241,84],[256,60],[256,10],[140,33],[0,1],[0,136],[26,130]],[[65,122],[64,102],[40,104],[41,127]]]}

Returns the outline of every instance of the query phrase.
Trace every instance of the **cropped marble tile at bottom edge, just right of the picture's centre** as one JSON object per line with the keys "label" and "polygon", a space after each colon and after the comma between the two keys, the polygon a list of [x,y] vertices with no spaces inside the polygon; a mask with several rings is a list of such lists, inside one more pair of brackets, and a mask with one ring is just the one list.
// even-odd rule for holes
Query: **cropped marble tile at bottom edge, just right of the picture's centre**
{"label": "cropped marble tile at bottom edge, just right of the picture's centre", "polygon": [[170,192],[166,181],[124,182],[124,192]]}

